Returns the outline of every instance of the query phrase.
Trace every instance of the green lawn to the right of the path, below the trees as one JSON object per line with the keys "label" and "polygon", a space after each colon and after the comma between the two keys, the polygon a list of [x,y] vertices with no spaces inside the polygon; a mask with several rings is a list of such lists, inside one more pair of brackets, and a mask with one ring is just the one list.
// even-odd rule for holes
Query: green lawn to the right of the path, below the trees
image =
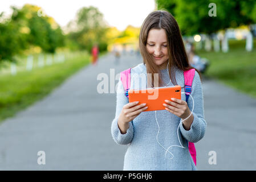
{"label": "green lawn to the right of the path, below the trees", "polygon": [[210,61],[205,76],[256,98],[256,40],[251,52],[245,50],[245,40],[229,40],[229,48],[227,53],[197,51]]}

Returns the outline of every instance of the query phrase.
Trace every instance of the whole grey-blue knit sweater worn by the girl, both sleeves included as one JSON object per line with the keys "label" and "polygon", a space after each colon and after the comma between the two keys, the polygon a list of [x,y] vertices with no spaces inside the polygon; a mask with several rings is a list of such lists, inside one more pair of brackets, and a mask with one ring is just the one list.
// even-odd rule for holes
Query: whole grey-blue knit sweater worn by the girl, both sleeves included
{"label": "whole grey-blue knit sweater worn by the girl, both sleeves included", "polygon": [[[176,74],[177,84],[184,87],[183,72],[177,67],[174,67],[173,70]],[[131,69],[131,75],[133,73],[138,73],[139,75],[141,73],[147,74],[147,69],[145,65],[141,63]],[[168,84],[170,81],[168,69],[162,69],[161,73],[162,80],[165,83],[164,85]],[[172,82],[167,86],[173,86]],[[141,77],[140,81],[138,81],[138,79],[135,79],[132,76],[131,88],[147,88],[147,77]],[[181,89],[181,92],[185,92],[184,88]],[[115,119],[112,121],[111,134],[113,140],[117,144],[128,145],[127,152],[124,156],[124,170],[197,170],[189,153],[187,144],[187,141],[195,143],[201,140],[204,137],[206,129],[202,86],[197,72],[194,75],[191,95],[194,98],[194,121],[190,130],[185,130],[182,123],[178,128],[181,118],[167,110],[157,110],[141,112],[135,119],[133,119],[133,121],[129,122],[127,133],[121,134],[117,125],[117,120],[123,106],[128,104],[129,100],[125,97],[124,87],[119,78],[116,98],[116,115]],[[186,101],[185,94],[181,94],[181,100]],[[191,97],[188,99],[188,106],[190,111],[192,111],[193,101]],[[156,118],[159,125],[157,125]],[[169,146],[176,145],[168,150],[173,156],[169,152],[167,152],[165,156],[166,150],[160,146],[156,139],[158,131],[159,134],[157,138],[163,147],[167,149]],[[182,146],[185,148],[177,147],[180,146],[178,136]]]}

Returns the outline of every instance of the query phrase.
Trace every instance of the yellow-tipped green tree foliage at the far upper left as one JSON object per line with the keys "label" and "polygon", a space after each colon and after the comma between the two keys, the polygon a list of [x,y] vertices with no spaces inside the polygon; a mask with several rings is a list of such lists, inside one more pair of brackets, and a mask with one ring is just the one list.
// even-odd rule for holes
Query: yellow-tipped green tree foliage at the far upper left
{"label": "yellow-tipped green tree foliage at the far upper left", "polygon": [[11,17],[0,22],[0,62],[15,61],[15,55],[32,47],[54,53],[57,47],[64,46],[61,28],[51,17],[38,16],[40,7],[24,5],[21,9],[15,6],[11,9]]}

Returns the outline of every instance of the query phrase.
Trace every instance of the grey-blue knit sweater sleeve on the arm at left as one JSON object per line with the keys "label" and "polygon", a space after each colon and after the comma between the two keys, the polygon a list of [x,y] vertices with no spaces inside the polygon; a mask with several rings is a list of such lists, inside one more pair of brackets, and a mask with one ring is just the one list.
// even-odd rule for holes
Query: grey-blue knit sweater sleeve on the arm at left
{"label": "grey-blue knit sweater sleeve on the arm at left", "polygon": [[119,126],[117,125],[117,121],[118,121],[119,115],[121,113],[121,110],[123,109],[123,106],[125,104],[128,104],[128,102],[129,102],[129,100],[125,96],[125,93],[124,93],[123,83],[121,82],[121,80],[119,78],[119,82],[118,82],[117,90],[116,90],[116,115],[115,115],[115,119],[113,119],[112,125],[111,125],[111,135],[112,135],[113,140],[115,140],[115,142],[117,144],[126,145],[126,144],[129,144],[132,142],[132,138],[133,138],[133,123],[132,122],[133,121],[129,122],[129,128],[125,134],[121,134]]}

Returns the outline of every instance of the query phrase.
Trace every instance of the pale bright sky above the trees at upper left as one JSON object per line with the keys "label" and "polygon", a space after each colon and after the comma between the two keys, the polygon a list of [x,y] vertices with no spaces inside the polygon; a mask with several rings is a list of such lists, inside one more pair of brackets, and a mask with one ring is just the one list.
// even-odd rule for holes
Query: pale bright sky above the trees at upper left
{"label": "pale bright sky above the trees at upper left", "polygon": [[109,26],[123,31],[128,25],[140,27],[149,13],[155,10],[155,0],[8,0],[0,2],[0,13],[11,14],[10,6],[26,3],[42,7],[62,27],[75,18],[82,7],[94,6],[104,15]]}

